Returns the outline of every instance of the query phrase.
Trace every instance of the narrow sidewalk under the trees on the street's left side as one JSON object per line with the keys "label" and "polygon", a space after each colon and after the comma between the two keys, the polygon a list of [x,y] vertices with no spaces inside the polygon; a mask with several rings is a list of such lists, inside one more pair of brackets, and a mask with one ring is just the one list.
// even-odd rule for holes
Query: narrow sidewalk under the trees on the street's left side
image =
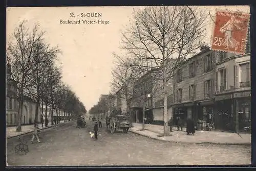
{"label": "narrow sidewalk under the trees on the street's left side", "polygon": [[[64,123],[64,120],[61,120],[60,124],[61,123]],[[39,130],[42,130],[42,129],[47,129],[47,128],[51,128],[51,127],[58,126],[58,125],[59,124],[52,126],[52,123],[50,122],[48,124],[48,127],[45,127],[45,125],[44,125],[44,128],[42,128],[41,124],[38,124],[38,127],[39,127]],[[22,134],[32,132],[33,128],[34,128],[34,125],[24,125],[24,126],[22,126],[22,132],[16,132],[16,126],[6,127],[6,138],[11,138],[11,137],[15,137],[15,136],[18,136],[18,135],[22,135]]]}

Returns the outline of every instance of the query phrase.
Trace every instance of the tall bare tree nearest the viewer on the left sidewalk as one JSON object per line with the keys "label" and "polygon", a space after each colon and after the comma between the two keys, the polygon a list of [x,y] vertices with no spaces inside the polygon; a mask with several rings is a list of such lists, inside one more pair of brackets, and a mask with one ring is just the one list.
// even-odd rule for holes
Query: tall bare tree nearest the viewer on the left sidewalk
{"label": "tall bare tree nearest the viewer on the left sidewalk", "polygon": [[22,131],[22,111],[24,103],[24,92],[29,86],[28,76],[33,69],[34,57],[37,52],[38,42],[44,36],[44,32],[38,31],[35,25],[32,31],[26,28],[24,20],[15,29],[13,39],[8,43],[7,62],[12,66],[12,78],[17,84],[18,117],[16,120],[16,130]]}

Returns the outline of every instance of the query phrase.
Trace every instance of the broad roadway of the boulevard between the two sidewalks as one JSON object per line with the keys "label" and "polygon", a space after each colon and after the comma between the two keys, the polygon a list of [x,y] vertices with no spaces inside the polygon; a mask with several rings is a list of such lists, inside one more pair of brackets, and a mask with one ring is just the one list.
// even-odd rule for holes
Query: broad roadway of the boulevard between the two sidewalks
{"label": "broad roadway of the boulevard between the two sidewalks", "polygon": [[29,153],[15,154],[18,138],[7,140],[7,162],[17,165],[215,165],[250,164],[250,145],[171,143],[128,132],[113,135],[100,128],[98,140],[91,139],[93,127],[78,129],[74,122],[41,132],[41,143],[30,143]]}

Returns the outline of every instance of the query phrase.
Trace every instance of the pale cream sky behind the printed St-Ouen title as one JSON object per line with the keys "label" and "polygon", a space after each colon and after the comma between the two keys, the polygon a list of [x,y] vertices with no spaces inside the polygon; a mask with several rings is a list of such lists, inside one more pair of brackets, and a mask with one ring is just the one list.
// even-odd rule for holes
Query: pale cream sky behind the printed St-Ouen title
{"label": "pale cream sky behind the printed St-Ouen title", "polygon": [[[7,8],[7,42],[19,22],[26,19],[27,27],[38,23],[46,31],[45,38],[62,51],[62,81],[77,94],[89,110],[97,104],[100,94],[111,91],[113,55],[121,53],[121,32],[131,25],[133,10],[143,7],[12,7]],[[201,6],[214,15],[216,9],[249,12],[249,6]],[[70,17],[73,13],[74,17]],[[101,13],[101,17],[81,17],[81,13]],[[109,21],[107,25],[83,24],[83,20]],[[210,19],[208,17],[208,19]],[[80,24],[60,24],[63,21],[78,21]],[[210,39],[212,25],[205,26]],[[207,41],[206,41],[207,42]],[[207,43],[210,43],[208,41]]]}

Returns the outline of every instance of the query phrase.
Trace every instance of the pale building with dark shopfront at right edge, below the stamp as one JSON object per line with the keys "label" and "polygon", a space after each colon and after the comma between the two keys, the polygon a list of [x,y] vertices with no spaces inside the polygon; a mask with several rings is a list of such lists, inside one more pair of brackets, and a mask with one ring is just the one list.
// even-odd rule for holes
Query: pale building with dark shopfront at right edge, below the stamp
{"label": "pale building with dark shopfront at right edge, below the stamp", "polygon": [[217,129],[243,131],[251,125],[250,54],[222,54],[216,72]]}

